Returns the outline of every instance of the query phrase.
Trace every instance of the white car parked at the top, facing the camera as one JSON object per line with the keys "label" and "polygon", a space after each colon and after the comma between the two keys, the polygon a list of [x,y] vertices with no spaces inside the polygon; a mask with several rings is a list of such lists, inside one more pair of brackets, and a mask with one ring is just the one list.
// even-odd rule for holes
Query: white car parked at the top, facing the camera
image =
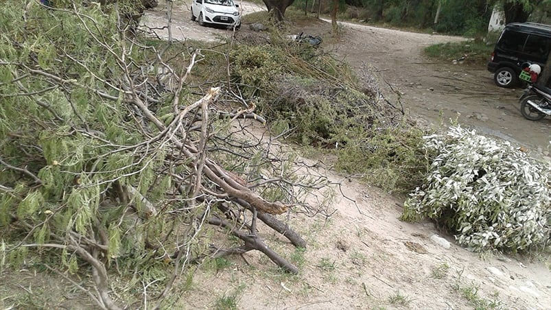
{"label": "white car parked at the top, facing the camera", "polygon": [[192,0],[191,21],[197,19],[199,25],[205,24],[225,25],[228,27],[241,27],[241,15],[239,5],[233,0]]}

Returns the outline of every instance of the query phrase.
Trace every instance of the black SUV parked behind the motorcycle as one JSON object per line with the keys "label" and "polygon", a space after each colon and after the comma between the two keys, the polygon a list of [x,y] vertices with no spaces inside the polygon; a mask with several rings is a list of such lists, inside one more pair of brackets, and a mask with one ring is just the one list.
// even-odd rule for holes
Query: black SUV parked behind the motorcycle
{"label": "black SUV parked behind the motorcycle", "polygon": [[513,87],[519,84],[524,65],[539,64],[543,69],[550,49],[551,25],[507,24],[495,43],[488,71],[495,73],[493,80],[497,86]]}

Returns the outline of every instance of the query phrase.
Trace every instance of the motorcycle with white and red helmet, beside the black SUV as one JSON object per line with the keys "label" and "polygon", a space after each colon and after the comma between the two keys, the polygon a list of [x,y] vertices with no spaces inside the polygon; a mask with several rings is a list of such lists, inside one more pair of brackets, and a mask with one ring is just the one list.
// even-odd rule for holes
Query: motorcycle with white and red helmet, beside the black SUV
{"label": "motorcycle with white and red helmet, beside the black SUV", "polygon": [[[535,65],[537,66],[537,65]],[[532,66],[530,66],[532,67]],[[528,73],[536,73],[536,77],[528,78]],[[535,72],[532,70],[523,71],[519,78],[528,82],[526,91],[519,98],[520,112],[525,119],[530,121],[539,121],[548,115],[551,115],[551,88],[533,84],[537,80],[537,75],[541,72],[537,66]]]}

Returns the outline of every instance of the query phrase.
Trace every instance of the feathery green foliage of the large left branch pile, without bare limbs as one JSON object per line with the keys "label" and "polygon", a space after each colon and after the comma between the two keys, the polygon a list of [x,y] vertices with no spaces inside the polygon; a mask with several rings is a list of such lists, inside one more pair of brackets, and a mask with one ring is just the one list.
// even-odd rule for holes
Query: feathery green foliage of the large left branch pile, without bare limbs
{"label": "feathery green foliage of the large left branch pile, without bare limbs", "polygon": [[[157,140],[143,143],[159,130],[144,130],[116,87],[128,82],[124,77],[132,73],[126,71],[141,73],[156,51],[124,40],[112,5],[73,8],[73,1],[56,1],[67,10],[34,3],[25,11],[25,2],[0,6],[0,159],[25,171],[0,164],[1,267],[37,259],[88,272],[82,257],[62,246],[105,237],[104,258],[121,268],[119,276],[144,270],[152,277],[144,281],[159,281],[150,287],[155,291],[171,266],[145,239],[158,246],[174,231],[171,221],[187,217],[145,210],[145,196],[152,204],[164,202],[174,184],[175,174],[157,178],[172,150]],[[126,10],[125,3],[119,1],[119,9]],[[62,250],[36,249],[44,243]]]}

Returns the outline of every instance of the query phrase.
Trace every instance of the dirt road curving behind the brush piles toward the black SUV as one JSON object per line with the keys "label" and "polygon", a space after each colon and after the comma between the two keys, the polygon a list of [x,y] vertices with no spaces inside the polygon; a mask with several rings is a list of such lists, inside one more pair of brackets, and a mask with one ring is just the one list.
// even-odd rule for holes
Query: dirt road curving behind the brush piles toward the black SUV
{"label": "dirt road curving behind the brush piles toward the black SUV", "polygon": [[[414,34],[343,23],[347,32],[338,53],[360,69],[371,63],[378,75],[401,94],[410,115],[427,123],[457,119],[464,127],[527,147],[548,158],[551,119],[528,121],[521,116],[517,98],[521,89],[493,84],[485,67],[431,62],[422,49],[458,37]],[[468,56],[467,56],[468,57]]]}

